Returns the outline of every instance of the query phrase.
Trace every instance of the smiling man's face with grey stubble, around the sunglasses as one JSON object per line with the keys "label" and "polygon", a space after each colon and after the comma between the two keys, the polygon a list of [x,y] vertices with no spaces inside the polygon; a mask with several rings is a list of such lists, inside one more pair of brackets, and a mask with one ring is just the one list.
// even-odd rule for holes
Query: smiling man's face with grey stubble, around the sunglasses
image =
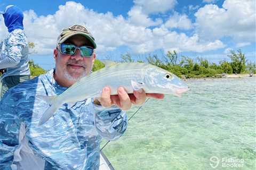
{"label": "smiling man's face with grey stubble, around the sunglasses", "polygon": [[[74,44],[77,47],[91,46],[90,41],[81,35],[75,35],[67,39],[65,44]],[[58,49],[54,49],[54,79],[60,86],[71,86],[91,72],[95,57],[95,53],[91,57],[82,57],[79,49],[76,50],[74,55],[61,54]]]}

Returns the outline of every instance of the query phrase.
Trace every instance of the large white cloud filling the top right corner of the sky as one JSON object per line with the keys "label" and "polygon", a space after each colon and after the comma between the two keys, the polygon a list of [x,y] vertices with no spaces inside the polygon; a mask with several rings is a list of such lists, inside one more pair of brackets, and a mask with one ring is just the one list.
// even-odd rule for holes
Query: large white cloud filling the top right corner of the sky
{"label": "large white cloud filling the top right corner of the sky", "polygon": [[255,1],[226,0],[222,8],[205,5],[195,13],[196,32],[213,40],[231,37],[236,42],[255,42]]}

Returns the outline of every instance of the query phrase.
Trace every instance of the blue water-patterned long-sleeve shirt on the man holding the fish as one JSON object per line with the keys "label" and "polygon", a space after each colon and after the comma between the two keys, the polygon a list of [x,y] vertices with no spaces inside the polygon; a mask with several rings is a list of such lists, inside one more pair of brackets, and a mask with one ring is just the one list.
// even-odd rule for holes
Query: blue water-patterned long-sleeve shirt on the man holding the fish
{"label": "blue water-patterned long-sleeve shirt on the man holding the fish", "polygon": [[19,84],[0,101],[1,170],[99,169],[102,137],[116,140],[126,130],[124,111],[94,105],[92,99],[63,104],[38,126],[49,104],[36,96],[67,89],[52,75],[53,70]]}

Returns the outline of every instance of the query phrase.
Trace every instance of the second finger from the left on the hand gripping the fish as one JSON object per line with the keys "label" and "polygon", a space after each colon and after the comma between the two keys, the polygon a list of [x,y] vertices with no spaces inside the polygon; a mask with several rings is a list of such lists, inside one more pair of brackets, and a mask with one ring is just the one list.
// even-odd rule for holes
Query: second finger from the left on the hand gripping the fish
{"label": "second finger from the left on the hand gripping the fish", "polygon": [[132,103],[131,103],[129,95],[124,90],[124,88],[119,87],[117,92],[118,92],[118,96],[119,96],[119,99],[120,99],[120,106],[119,107],[123,111],[126,111],[126,110],[130,109],[132,107]]}

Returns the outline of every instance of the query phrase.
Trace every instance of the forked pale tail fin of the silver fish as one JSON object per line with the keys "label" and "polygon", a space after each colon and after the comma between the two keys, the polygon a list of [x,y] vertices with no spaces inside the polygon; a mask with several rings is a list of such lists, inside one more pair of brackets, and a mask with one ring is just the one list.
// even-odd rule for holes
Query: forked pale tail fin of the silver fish
{"label": "forked pale tail fin of the silver fish", "polygon": [[47,108],[47,110],[44,112],[42,117],[39,120],[38,126],[41,126],[45,122],[49,120],[49,118],[52,117],[52,115],[57,111],[57,109],[62,105],[62,102],[59,102],[58,96],[37,96],[38,98],[46,101],[51,106]]}

